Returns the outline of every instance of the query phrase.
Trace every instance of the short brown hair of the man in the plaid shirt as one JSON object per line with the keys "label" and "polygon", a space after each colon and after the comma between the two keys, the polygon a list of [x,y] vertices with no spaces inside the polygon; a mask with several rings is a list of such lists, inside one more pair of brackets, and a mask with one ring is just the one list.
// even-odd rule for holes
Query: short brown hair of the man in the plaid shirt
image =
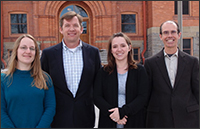
{"label": "short brown hair of the man in the plaid shirt", "polygon": [[71,19],[72,19],[73,17],[75,17],[75,16],[77,16],[77,18],[78,18],[78,20],[79,20],[79,24],[80,24],[80,26],[81,26],[81,28],[82,28],[83,17],[82,17],[81,15],[77,14],[77,13],[74,12],[74,11],[69,11],[69,12],[63,14],[63,16],[62,16],[62,17],[60,18],[60,20],[59,20],[60,27],[63,26],[63,20],[64,20],[64,19],[65,19],[65,20],[71,20]]}

